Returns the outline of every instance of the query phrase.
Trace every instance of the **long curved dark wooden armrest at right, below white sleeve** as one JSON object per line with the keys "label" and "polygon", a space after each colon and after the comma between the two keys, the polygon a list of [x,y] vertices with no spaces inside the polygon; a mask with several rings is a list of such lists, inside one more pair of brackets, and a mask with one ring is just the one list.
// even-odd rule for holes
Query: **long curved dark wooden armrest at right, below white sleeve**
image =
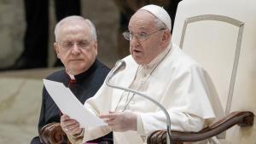
{"label": "long curved dark wooden armrest at right, below white sleeve", "polygon": [[[241,127],[253,125],[253,112],[232,112],[211,124],[207,128],[198,132],[172,131],[171,137],[174,144],[183,144],[183,142],[202,141],[214,135],[218,135],[230,127],[238,124]],[[148,144],[166,144],[166,130],[154,131],[147,139]]]}

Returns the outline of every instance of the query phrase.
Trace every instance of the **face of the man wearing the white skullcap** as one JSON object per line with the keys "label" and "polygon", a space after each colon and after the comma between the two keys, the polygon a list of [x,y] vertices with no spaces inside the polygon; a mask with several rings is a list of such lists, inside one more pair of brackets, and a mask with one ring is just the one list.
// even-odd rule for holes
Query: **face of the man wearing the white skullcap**
{"label": "face of the man wearing the white skullcap", "polygon": [[[164,50],[161,47],[163,31],[155,26],[154,15],[144,10],[137,11],[131,17],[128,29],[133,36],[130,40],[130,53],[137,64],[148,64]],[[138,35],[148,37],[140,40]]]}

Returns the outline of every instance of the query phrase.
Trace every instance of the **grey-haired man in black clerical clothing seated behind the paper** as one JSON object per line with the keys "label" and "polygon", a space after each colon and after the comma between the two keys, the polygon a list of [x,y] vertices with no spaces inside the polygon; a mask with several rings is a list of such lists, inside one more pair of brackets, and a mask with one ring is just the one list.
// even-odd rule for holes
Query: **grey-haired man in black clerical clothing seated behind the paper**
{"label": "grey-haired man in black clerical clothing seated behind the paper", "polygon": [[[96,28],[90,20],[81,16],[68,16],[55,26],[55,41],[56,55],[65,69],[54,72],[47,79],[63,83],[71,89],[79,101],[84,103],[96,94],[109,72],[109,68],[96,59]],[[38,130],[46,124],[60,122],[60,118],[60,109],[44,88]],[[112,140],[112,133],[108,135],[106,133],[93,142],[109,140]],[[36,136],[31,143],[41,142]],[[67,143],[67,140],[62,143]]]}

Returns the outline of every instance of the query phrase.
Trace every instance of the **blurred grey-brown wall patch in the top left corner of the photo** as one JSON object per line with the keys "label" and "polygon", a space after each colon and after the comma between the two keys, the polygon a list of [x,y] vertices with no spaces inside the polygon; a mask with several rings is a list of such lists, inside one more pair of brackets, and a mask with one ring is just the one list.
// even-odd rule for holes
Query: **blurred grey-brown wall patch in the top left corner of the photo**
{"label": "blurred grey-brown wall patch in the top left corner of the photo", "polygon": [[0,66],[9,66],[22,51],[25,31],[23,1],[0,1]]}

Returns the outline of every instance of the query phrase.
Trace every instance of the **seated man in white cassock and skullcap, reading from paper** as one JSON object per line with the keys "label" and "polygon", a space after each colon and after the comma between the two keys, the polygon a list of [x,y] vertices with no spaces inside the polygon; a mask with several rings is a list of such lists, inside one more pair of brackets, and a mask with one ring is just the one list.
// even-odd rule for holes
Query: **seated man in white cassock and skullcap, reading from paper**
{"label": "seated man in white cassock and skullcap, reading from paper", "polygon": [[[129,30],[123,33],[130,41],[131,55],[123,59],[125,69],[117,72],[110,83],[136,89],[159,101],[170,114],[172,130],[199,131],[216,117],[211,97],[218,95],[201,65],[171,42],[171,27],[165,9],[156,5],[138,9],[131,16]],[[154,103],[106,84],[85,101],[84,107],[108,126],[82,130],[77,121],[63,115],[61,127],[67,129],[73,143],[113,131],[115,144],[143,144],[154,130],[166,130],[166,116]],[[68,131],[69,128],[76,132]],[[84,136],[76,139],[74,135]],[[204,142],[209,141],[212,140]]]}

